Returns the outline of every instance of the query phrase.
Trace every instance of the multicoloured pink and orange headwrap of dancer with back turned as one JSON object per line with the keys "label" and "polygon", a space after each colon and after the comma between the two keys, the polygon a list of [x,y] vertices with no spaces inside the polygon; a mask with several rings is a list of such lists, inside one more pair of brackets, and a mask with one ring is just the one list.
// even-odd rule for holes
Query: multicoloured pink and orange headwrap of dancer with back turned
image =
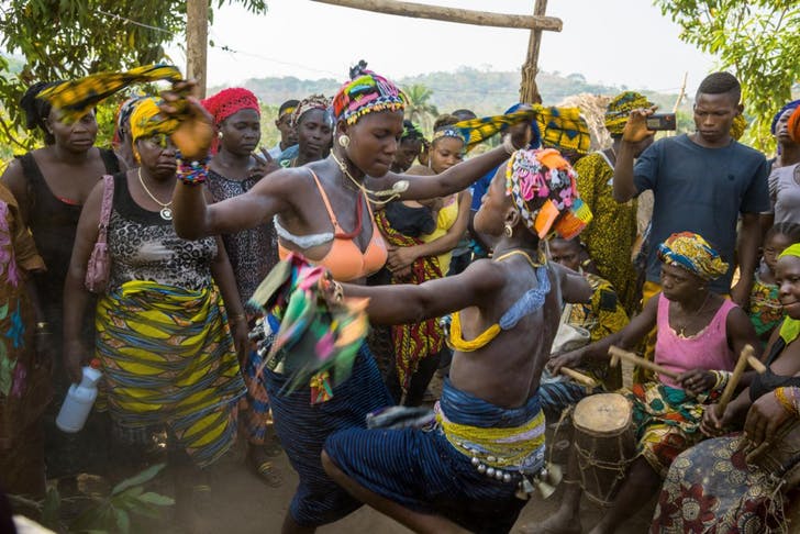
{"label": "multicoloured pink and orange headwrap of dancer with back turned", "polygon": [[551,229],[565,240],[578,235],[591,221],[591,211],[578,197],[575,171],[553,148],[516,151],[505,167],[505,192],[527,230],[541,240]]}

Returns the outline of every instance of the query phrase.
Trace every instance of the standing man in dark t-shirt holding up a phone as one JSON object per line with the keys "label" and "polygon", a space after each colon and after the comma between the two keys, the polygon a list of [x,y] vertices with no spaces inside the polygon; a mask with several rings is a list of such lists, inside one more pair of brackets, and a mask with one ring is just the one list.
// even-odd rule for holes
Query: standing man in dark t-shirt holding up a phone
{"label": "standing man in dark t-shirt holding up a phone", "polygon": [[[614,198],[626,202],[652,189],[653,227],[647,257],[647,281],[653,293],[659,283],[656,247],[674,232],[702,235],[731,265],[726,276],[710,283],[718,293],[731,293],[746,305],[753,286],[760,241],[758,214],[769,210],[767,162],[763,154],[731,137],[733,119],[742,112],[741,89],[735,77],[715,73],[698,89],[695,103],[697,131],[657,141],[636,160],[630,145],[653,132],[646,127],[652,110],[632,112],[614,168]],[[736,223],[742,218],[736,249]],[[735,260],[740,282],[731,289]],[[648,294],[649,293],[649,294]]]}

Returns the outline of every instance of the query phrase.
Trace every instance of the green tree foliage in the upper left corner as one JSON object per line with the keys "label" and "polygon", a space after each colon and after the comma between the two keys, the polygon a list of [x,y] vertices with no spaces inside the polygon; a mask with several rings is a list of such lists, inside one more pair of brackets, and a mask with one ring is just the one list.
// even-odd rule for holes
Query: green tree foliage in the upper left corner
{"label": "green tree foliage in the upper left corner", "polygon": [[[222,8],[240,3],[265,13],[265,0],[210,0]],[[30,149],[35,140],[22,127],[16,103],[38,80],[79,78],[169,62],[164,45],[186,32],[186,0],[8,0],[0,3],[0,46],[4,56],[22,57],[10,67],[0,55],[0,145]]]}

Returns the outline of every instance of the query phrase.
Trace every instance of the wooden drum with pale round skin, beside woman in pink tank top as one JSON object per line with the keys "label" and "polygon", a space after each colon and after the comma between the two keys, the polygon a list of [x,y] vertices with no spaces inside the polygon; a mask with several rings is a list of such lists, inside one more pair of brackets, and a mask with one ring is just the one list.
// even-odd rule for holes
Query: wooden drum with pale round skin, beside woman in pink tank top
{"label": "wooden drum with pale round skin, beside woman in pink tank top", "polygon": [[575,407],[575,449],[581,488],[593,502],[610,505],[636,456],[632,407],[620,393],[598,393]]}

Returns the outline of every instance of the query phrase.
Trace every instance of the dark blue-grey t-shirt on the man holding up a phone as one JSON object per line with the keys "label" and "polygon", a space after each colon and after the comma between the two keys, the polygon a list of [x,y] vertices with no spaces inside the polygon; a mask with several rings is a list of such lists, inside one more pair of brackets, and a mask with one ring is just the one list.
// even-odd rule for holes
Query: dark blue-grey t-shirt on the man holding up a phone
{"label": "dark blue-grey t-shirt on the man holding up a phone", "polygon": [[740,213],[769,210],[767,160],[736,141],[705,148],[687,135],[658,140],[634,166],[641,193],[653,190],[653,229],[647,256],[647,280],[659,282],[658,244],[675,232],[702,235],[727,262],[727,275],[709,287],[727,293],[734,270],[736,223]]}

